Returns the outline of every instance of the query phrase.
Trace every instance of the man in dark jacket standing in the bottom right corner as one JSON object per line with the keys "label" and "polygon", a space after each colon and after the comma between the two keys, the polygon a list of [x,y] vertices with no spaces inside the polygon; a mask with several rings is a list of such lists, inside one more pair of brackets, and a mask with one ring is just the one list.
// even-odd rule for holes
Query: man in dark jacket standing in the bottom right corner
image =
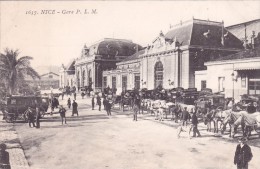
{"label": "man in dark jacket standing in the bottom right corner", "polygon": [[253,158],[251,148],[246,144],[246,138],[242,137],[238,141],[239,144],[236,148],[234,164],[237,165],[237,169],[248,169],[248,163]]}

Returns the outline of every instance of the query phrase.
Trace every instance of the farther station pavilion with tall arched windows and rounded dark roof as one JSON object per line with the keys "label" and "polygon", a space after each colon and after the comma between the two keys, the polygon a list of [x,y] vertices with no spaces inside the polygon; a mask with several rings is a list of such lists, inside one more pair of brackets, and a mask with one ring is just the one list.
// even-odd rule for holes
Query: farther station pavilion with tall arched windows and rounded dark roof
{"label": "farther station pavilion with tall arched windows and rounded dark roof", "polygon": [[102,89],[102,72],[116,69],[116,63],[133,55],[140,45],[130,40],[105,38],[90,47],[84,46],[75,62],[76,87],[89,86],[95,91]]}

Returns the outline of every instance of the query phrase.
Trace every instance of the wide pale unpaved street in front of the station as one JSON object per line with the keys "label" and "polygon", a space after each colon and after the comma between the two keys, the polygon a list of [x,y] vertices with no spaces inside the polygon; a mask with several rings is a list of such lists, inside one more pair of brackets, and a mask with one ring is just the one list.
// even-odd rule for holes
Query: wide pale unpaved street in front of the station
{"label": "wide pale unpaved street in front of the station", "polygon": [[[72,98],[71,98],[72,99]],[[66,106],[67,97],[59,99]],[[77,98],[79,116],[67,110],[67,124],[59,114],[45,116],[41,128],[16,123],[15,130],[33,169],[231,169],[238,142],[202,132],[189,139],[177,138],[176,128],[131,112],[91,110],[89,98]],[[56,109],[57,110],[57,109]],[[173,123],[173,122],[172,122]],[[199,128],[200,129],[200,128]],[[259,139],[258,139],[259,142]],[[250,142],[249,142],[250,145]],[[250,145],[251,146],[251,145]],[[260,148],[251,146],[250,169],[258,169]]]}

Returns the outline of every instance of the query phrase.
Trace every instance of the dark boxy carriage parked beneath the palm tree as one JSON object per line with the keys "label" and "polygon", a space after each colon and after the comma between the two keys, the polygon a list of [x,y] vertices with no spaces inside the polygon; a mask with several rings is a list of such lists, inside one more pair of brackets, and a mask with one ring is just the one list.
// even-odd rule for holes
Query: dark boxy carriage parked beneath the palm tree
{"label": "dark boxy carriage parked beneath the palm tree", "polygon": [[41,115],[48,110],[48,97],[41,96],[10,96],[6,98],[6,103],[2,107],[2,112],[6,122],[15,122],[16,120],[27,121],[26,110],[28,107],[36,109],[39,107]]}

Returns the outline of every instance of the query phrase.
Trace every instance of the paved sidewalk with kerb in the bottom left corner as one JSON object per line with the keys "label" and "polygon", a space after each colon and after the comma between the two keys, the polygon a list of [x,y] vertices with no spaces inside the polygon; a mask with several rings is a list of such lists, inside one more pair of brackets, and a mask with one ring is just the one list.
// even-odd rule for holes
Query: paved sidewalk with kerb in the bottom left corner
{"label": "paved sidewalk with kerb in the bottom left corner", "polygon": [[30,169],[13,123],[6,123],[0,114],[0,142],[7,145],[12,169]]}

